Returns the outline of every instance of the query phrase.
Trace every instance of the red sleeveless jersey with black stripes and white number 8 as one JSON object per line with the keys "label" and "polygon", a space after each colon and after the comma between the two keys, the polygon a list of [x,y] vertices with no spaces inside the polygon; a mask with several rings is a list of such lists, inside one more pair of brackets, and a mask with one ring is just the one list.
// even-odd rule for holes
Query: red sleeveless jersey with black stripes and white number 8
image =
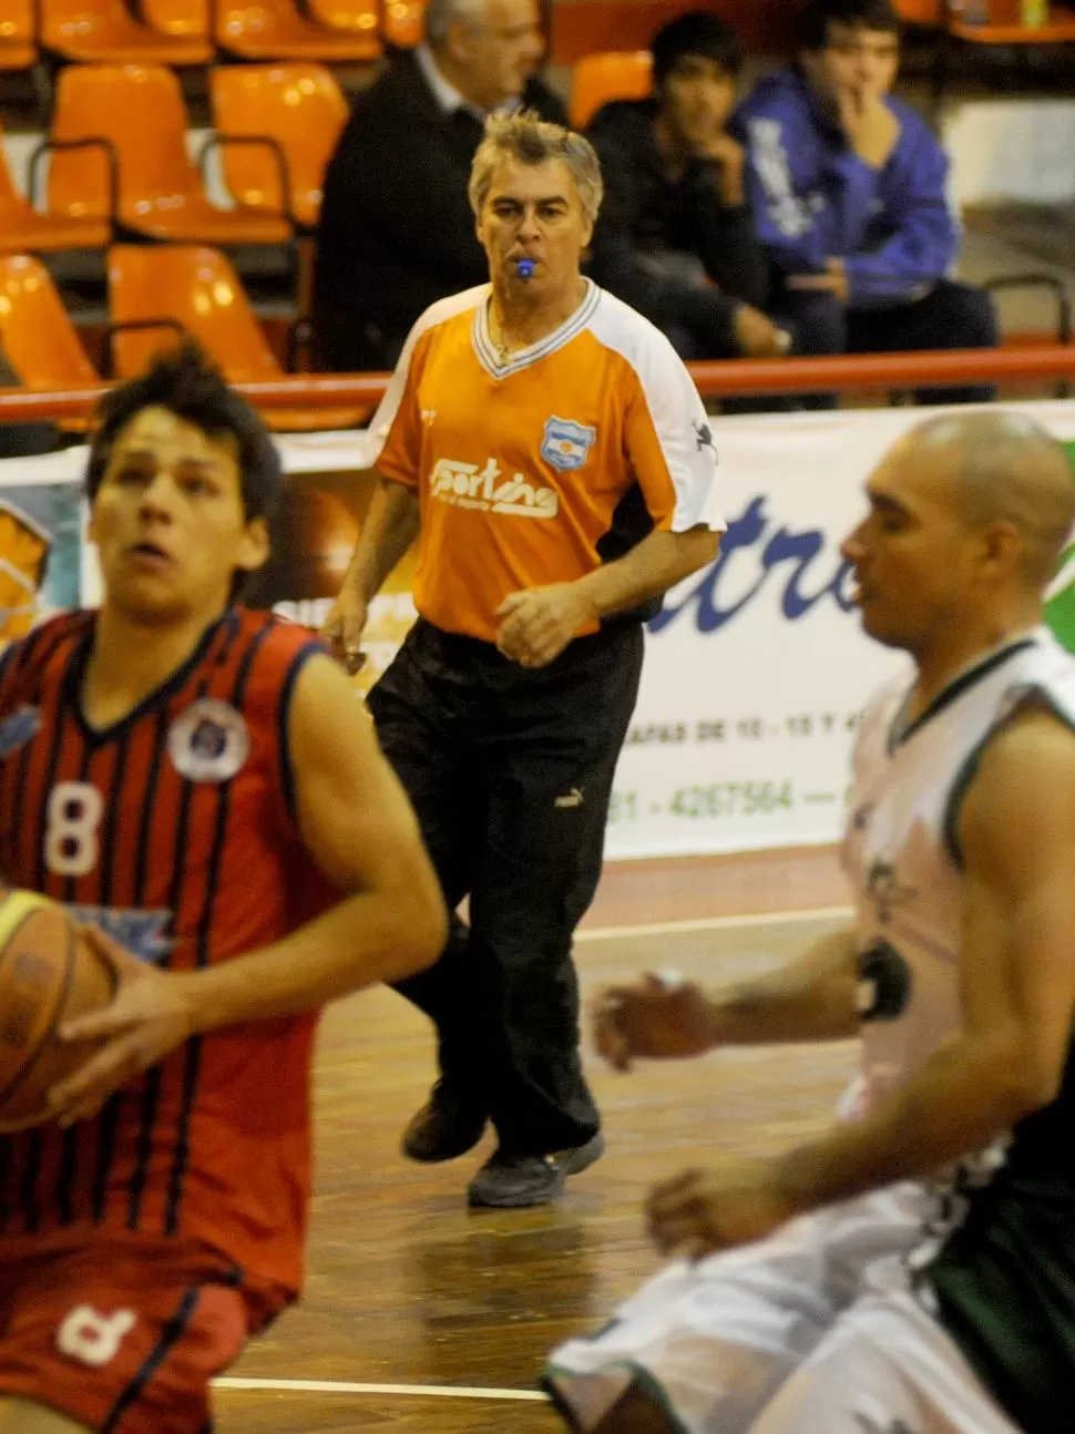
{"label": "red sleeveless jersey with black stripes and white number 8", "polygon": [[[297,829],[287,739],[320,644],[229,608],[162,687],[95,730],[80,704],[95,621],[56,618],[0,663],[0,868],[166,969],[281,939],[333,901]],[[314,1025],[215,1031],[95,1120],[0,1137],[0,1235],[181,1236],[297,1289]]]}

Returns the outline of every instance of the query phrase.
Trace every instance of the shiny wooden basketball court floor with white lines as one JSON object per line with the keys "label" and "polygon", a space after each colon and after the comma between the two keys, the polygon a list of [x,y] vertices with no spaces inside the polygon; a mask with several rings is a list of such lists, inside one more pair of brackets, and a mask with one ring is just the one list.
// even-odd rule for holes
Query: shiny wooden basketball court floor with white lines
{"label": "shiny wooden basketball court floor with white lines", "polygon": [[[831,850],[612,865],[578,944],[583,998],[662,967],[752,974],[846,921],[846,901]],[[715,1147],[763,1153],[824,1126],[854,1045],[631,1076],[588,1057],[608,1154],[555,1206],[469,1212],[492,1136],[444,1166],[398,1152],[433,1078],[426,1020],[384,989],[328,1012],[307,1296],[221,1381],[219,1434],[556,1434],[536,1375],[656,1268],[641,1220],[652,1182]]]}

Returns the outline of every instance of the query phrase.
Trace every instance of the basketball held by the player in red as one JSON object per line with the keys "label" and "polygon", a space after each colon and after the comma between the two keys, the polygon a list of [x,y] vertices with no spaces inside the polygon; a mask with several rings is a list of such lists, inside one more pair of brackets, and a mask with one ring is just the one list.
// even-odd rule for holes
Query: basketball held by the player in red
{"label": "basketball held by the player in red", "polygon": [[49,1090],[93,1053],[56,1038],[112,998],[115,975],[70,915],[36,892],[0,899],[0,1131],[43,1121]]}

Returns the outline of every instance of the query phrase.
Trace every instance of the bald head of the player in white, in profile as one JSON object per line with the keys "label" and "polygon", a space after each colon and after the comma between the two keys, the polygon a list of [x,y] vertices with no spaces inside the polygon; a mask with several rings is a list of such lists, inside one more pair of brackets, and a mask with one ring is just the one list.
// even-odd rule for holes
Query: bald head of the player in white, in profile
{"label": "bald head of the player in white, in profile", "polygon": [[1003,410],[912,429],[871,475],[844,543],[867,632],[923,652],[952,632],[1032,624],[1075,523],[1062,445]]}

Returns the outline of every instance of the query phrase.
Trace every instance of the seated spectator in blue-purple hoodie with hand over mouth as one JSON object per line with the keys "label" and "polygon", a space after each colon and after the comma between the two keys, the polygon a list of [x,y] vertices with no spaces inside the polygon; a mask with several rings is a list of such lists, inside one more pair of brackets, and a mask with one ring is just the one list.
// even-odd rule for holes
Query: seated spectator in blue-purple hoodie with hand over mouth
{"label": "seated spectator in blue-purple hoodie with hand over mouth", "polygon": [[[732,123],[747,188],[804,354],[988,348],[989,297],[946,275],[959,224],[947,158],[890,95],[902,22],[890,0],[808,0],[796,69],[758,83]],[[992,389],[926,390],[980,402]]]}

